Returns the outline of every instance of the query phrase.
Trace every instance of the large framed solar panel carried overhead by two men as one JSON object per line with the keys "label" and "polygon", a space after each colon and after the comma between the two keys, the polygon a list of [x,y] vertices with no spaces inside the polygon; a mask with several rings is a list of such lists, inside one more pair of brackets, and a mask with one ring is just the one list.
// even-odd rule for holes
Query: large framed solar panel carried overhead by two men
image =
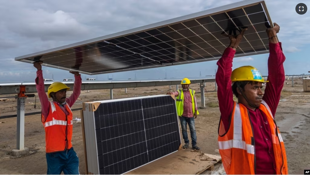
{"label": "large framed solar panel carried overhead by two men", "polygon": [[[241,10],[243,11],[243,13]],[[261,12],[261,10],[263,10],[263,12]],[[261,20],[263,13],[265,16],[265,20]],[[246,14],[246,16],[244,14]],[[260,16],[260,18],[255,18],[255,16]],[[157,68],[166,66],[160,64],[159,62],[169,63],[169,60],[173,61],[174,65],[217,60],[221,57],[223,53],[223,47],[220,46],[225,46],[225,44],[227,45],[228,43],[227,40],[225,41],[225,39],[227,38],[221,36],[218,32],[223,30],[225,31],[225,27],[231,26],[232,24],[234,24],[236,28],[238,27],[239,29],[241,29],[247,23],[242,23],[240,21],[250,21],[250,18],[252,18],[252,20],[257,20],[260,23],[254,24],[252,22],[251,24],[249,24],[249,30],[247,30],[249,32],[246,32],[246,35],[241,42],[247,42],[247,36],[252,39],[258,38],[259,40],[261,40],[261,43],[259,43],[258,41],[252,42],[255,45],[252,46],[252,52],[249,48],[246,49],[247,51],[243,51],[241,47],[238,48],[238,52],[236,52],[235,57],[269,53],[269,46],[266,45],[266,41],[263,41],[263,39],[265,38],[260,38],[266,37],[266,34],[263,33],[263,31],[266,29],[266,25],[273,27],[266,4],[262,0],[245,0],[193,13],[190,15],[185,15],[162,22],[145,25],[142,27],[109,34],[103,37],[97,37],[94,39],[61,46],[54,49],[16,57],[15,60],[33,63],[33,61],[35,60],[33,57],[41,56],[41,60],[43,61],[42,65],[44,66],[64,70],[76,70],[76,68],[79,67],[80,70],[76,71],[88,75],[122,72],[145,68]],[[259,31],[255,31],[256,27],[257,30],[259,29]],[[198,30],[198,28],[200,28],[200,30]],[[204,30],[202,30],[203,28]],[[210,31],[208,31],[207,29],[209,29]],[[201,35],[199,35],[198,33],[195,34],[193,33],[193,31],[199,31],[198,33],[200,33]],[[228,33],[228,31],[225,32]],[[238,33],[239,31],[236,30],[236,34]],[[184,35],[187,37],[185,37]],[[210,36],[216,37],[213,38]],[[163,41],[160,38],[166,41]],[[207,46],[205,44],[206,42],[200,42],[204,40],[204,38],[208,40],[206,42],[210,46]],[[220,41],[225,41],[225,44]],[[112,42],[117,46],[109,46],[109,44],[106,42]],[[216,52],[203,54],[204,52],[200,49],[205,48],[196,48],[198,44],[205,44],[205,47],[213,47],[214,49],[215,47],[219,47],[220,50],[215,49]],[[165,48],[162,48],[159,45]],[[261,47],[262,45],[265,47],[264,51],[257,51],[263,49],[263,47]],[[118,46],[121,46],[122,48]],[[178,51],[179,49],[177,50],[177,53],[180,54],[177,54],[176,52],[171,53],[170,55],[162,54],[163,52],[167,53],[166,51],[171,51],[171,48],[174,47],[177,49],[182,48],[182,50],[180,50],[181,52]],[[134,52],[139,50],[141,50],[139,54],[143,56],[140,56],[135,60],[128,60],[128,58],[132,57],[125,58],[119,56],[124,56],[124,52],[126,52],[126,54],[128,55],[134,55]],[[148,52],[150,50],[152,50],[151,53]],[[161,51],[158,52],[158,50]],[[198,54],[195,50],[197,50],[197,52],[200,52],[202,55]],[[110,53],[119,57],[114,56],[114,58],[112,59],[111,56],[109,57],[109,55],[111,55]],[[100,55],[104,55],[104,57],[101,58]],[[74,56],[76,58],[82,57],[83,59],[86,59],[86,66],[84,67],[84,62],[82,63],[74,59],[67,59],[68,63],[66,65],[64,64],[67,60],[62,61],[63,63],[61,63],[60,61],[54,61],[54,65],[51,65],[52,62],[45,62],[47,61],[47,59],[55,60],[55,57],[57,56],[69,59],[74,58]],[[169,57],[170,59],[167,59],[167,57]],[[60,58],[58,58],[58,60],[59,59]],[[94,61],[90,61],[89,59],[93,59]],[[99,61],[101,61],[102,63],[98,63]],[[112,63],[109,63],[108,65],[107,62]],[[90,64],[95,64],[95,66],[91,68]]]}

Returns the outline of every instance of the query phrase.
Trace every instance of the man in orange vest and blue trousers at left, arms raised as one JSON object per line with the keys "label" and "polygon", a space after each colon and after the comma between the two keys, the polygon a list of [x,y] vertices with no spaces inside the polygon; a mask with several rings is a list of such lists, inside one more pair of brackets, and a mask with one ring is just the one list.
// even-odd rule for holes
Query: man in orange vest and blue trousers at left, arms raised
{"label": "man in orange vest and blue trousers at left, arms raised", "polygon": [[37,78],[35,79],[38,96],[42,105],[41,121],[45,129],[47,174],[79,174],[79,159],[73,150],[72,128],[73,115],[70,107],[75,103],[81,93],[82,79],[79,72],[74,74],[73,94],[67,97],[70,88],[62,82],[52,83],[48,90],[48,98],[44,90],[42,75],[42,62],[35,62]]}

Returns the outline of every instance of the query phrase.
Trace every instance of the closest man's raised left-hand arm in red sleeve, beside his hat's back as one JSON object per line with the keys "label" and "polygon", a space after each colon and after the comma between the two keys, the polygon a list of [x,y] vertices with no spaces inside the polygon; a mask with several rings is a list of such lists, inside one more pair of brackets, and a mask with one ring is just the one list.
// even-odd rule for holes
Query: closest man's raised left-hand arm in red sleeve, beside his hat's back
{"label": "closest man's raised left-hand arm in red sleeve, beside his hat's back", "polygon": [[230,114],[233,107],[232,81],[230,80],[232,73],[232,59],[246,30],[247,28],[243,29],[241,34],[237,36],[223,34],[230,39],[230,44],[216,63],[218,65],[215,75],[215,81],[218,86],[217,97],[219,99],[219,111],[221,112],[221,119],[225,129],[228,128]]}

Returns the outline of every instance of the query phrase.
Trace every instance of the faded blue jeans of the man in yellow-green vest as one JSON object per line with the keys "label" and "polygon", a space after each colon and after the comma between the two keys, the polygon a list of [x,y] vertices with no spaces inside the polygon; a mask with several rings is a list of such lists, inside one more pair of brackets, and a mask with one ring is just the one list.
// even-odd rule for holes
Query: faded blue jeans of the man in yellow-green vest
{"label": "faded blue jeans of the man in yellow-green vest", "polygon": [[197,138],[196,138],[196,130],[195,130],[195,119],[194,117],[184,117],[180,116],[181,128],[182,128],[182,136],[185,143],[189,143],[188,136],[187,136],[187,123],[189,126],[189,131],[191,132],[192,138],[192,146],[196,145]]}

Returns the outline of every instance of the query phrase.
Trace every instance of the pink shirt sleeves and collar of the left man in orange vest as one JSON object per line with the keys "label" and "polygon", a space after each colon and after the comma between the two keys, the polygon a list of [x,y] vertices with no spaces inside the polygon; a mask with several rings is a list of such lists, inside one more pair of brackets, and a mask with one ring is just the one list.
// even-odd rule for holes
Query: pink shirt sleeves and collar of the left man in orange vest
{"label": "pink shirt sleeves and collar of the left man in orange vest", "polygon": [[[74,76],[74,87],[73,87],[73,93],[70,95],[69,98],[66,98],[66,104],[64,105],[69,105],[71,108],[75,101],[78,99],[78,96],[81,94],[81,85],[82,85],[82,78],[81,75]],[[39,81],[39,83],[38,83]],[[37,71],[37,78],[35,80],[36,82],[36,89],[38,92],[38,96],[41,102],[42,106],[42,115],[46,118],[48,115],[48,112],[50,110],[50,101],[47,98],[47,95],[44,90],[44,80],[43,80],[43,75],[42,75],[42,70]],[[65,114],[69,114],[64,106],[60,105],[60,103],[57,103],[58,106],[64,111]]]}

